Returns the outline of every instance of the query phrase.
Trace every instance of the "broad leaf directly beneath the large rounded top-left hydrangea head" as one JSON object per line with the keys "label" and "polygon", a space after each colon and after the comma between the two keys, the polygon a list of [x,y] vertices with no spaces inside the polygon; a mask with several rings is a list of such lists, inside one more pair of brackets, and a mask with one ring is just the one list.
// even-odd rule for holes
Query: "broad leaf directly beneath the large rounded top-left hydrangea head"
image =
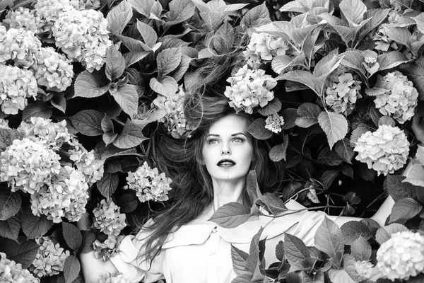
{"label": "broad leaf directly beneath the large rounded top-left hydrangea head", "polygon": [[95,98],[105,94],[108,89],[109,85],[104,86],[102,76],[98,72],[90,73],[86,70],[76,77],[73,97]]}

